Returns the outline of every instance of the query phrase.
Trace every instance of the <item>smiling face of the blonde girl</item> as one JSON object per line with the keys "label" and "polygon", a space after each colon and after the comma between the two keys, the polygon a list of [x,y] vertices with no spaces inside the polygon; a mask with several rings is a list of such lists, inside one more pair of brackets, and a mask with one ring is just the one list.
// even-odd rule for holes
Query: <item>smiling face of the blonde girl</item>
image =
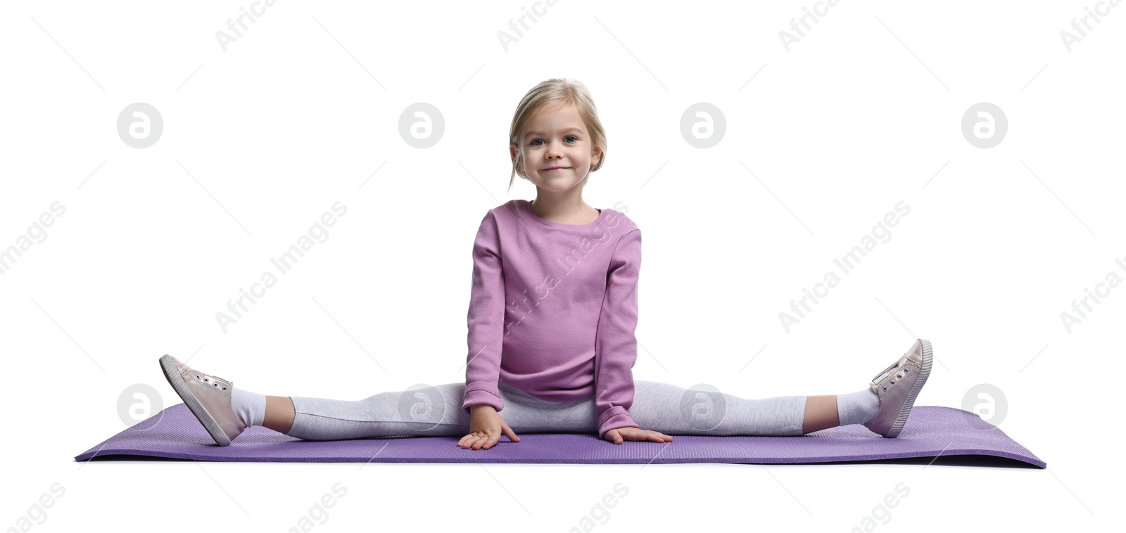
{"label": "smiling face of the blonde girl", "polygon": [[579,184],[601,157],[573,103],[538,109],[520,132],[512,157],[522,157],[524,173],[540,189],[562,192]]}

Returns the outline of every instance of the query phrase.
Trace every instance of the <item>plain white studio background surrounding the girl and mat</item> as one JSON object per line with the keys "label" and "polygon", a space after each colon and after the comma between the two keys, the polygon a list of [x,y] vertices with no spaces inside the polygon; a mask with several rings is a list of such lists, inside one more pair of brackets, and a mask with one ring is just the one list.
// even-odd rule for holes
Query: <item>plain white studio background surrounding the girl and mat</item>
{"label": "plain white studio background surrounding the girl and mat", "polygon": [[[1060,33],[1093,2],[843,0],[787,52],[778,34],[812,1],[561,0],[506,52],[497,34],[530,1],[280,0],[224,52],[215,33],[247,6],[3,7],[0,246],[66,211],[0,275],[0,526],[54,482],[34,531],[287,531],[336,482],[314,531],[569,531],[618,482],[597,531],[849,531],[901,481],[878,531],[1121,517],[1126,288],[1070,333],[1060,314],[1126,277],[1126,6],[1069,52]],[[507,135],[555,76],[588,85],[609,137],[586,201],[622,202],[644,235],[635,379],[842,394],[929,338],[918,405],[993,385],[999,426],[1048,469],[73,461],[126,427],[127,387],[180,401],[166,353],[269,395],[464,380],[473,237],[535,197],[520,179],[506,193]],[[143,150],[116,130],[134,102],[164,121]],[[414,102],[445,119],[430,148],[399,134]],[[679,130],[697,102],[726,119],[712,148]],[[960,130],[978,102],[1009,123],[988,150]],[[223,333],[215,314],[338,200],[330,238]],[[892,238],[786,333],[778,314],[901,200]]]}

